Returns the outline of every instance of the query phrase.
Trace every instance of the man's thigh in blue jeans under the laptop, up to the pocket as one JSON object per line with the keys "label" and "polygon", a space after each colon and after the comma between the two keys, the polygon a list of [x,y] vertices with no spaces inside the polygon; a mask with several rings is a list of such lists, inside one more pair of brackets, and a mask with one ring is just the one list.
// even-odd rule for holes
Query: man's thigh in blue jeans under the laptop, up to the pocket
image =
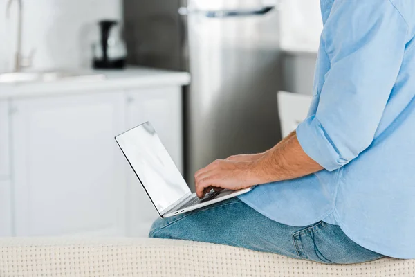
{"label": "man's thigh in blue jeans under the laptop, up to the pocket", "polygon": [[194,212],[156,220],[149,236],[228,244],[299,258],[293,246],[293,233],[300,229],[270,220],[235,197]]}

